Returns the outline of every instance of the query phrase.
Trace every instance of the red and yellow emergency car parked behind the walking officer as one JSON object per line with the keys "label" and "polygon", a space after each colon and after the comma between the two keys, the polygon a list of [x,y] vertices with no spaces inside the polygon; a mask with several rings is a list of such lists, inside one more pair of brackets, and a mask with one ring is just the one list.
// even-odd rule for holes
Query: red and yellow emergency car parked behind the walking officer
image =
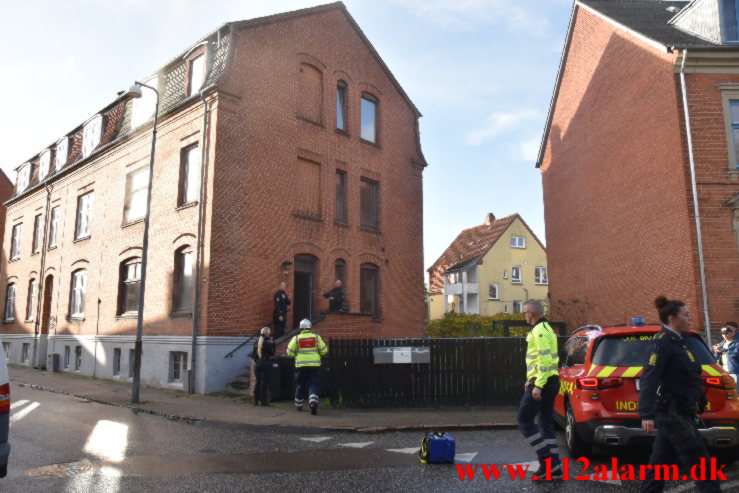
{"label": "red and yellow emergency car parked behind the walking officer", "polygon": [[[565,429],[570,455],[588,455],[595,444],[630,446],[653,440],[641,429],[639,377],[659,325],[581,327],[560,354],[560,390],[554,419]],[[699,432],[711,450],[739,449],[736,383],[694,332],[686,341],[702,366],[708,405]]]}

